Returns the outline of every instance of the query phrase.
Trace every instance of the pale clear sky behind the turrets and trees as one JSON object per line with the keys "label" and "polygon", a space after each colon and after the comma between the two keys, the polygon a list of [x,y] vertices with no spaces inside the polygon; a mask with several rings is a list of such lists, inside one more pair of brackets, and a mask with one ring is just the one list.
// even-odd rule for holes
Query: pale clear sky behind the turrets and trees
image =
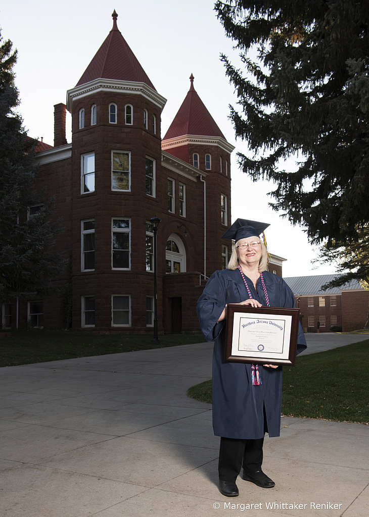
{"label": "pale clear sky behind the turrets and trees", "polygon": [[[238,51],[226,37],[213,0],[12,0],[0,4],[3,39],[18,50],[16,86],[19,113],[29,136],[53,145],[54,104],[66,102],[112,28],[111,13],[157,92],[167,100],[161,116],[164,136],[195,76],[194,86],[228,142],[231,156],[232,222],[238,217],[270,223],[265,235],[271,253],[283,257],[283,276],[327,275],[334,265],[317,265],[317,256],[299,226],[292,226],[268,205],[273,184],[253,183],[240,172],[236,153],[248,152],[235,140],[229,104],[237,108],[234,88],[219,55],[242,67]],[[67,140],[71,141],[71,118]],[[291,165],[290,165],[291,166]],[[292,164],[293,167],[293,164]],[[293,170],[293,169],[292,169]]]}

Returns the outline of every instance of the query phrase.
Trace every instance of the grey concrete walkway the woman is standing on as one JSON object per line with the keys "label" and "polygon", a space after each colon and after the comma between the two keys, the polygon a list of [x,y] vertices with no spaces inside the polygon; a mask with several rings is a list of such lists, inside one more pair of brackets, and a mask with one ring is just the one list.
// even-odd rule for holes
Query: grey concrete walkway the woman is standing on
{"label": "grey concrete walkway the woman is standing on", "polygon": [[363,424],[284,417],[264,445],[275,488],[218,492],[211,406],[186,397],[211,356],[200,343],[0,369],[0,515],[367,517]]}

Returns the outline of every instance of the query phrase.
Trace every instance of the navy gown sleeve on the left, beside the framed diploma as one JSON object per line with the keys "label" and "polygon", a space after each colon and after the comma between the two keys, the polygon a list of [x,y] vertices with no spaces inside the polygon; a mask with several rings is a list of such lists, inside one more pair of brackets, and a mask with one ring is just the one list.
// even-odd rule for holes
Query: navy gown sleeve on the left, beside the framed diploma
{"label": "navy gown sleeve on the left, beside the framed diploma", "polygon": [[216,339],[226,322],[223,320],[217,323],[226,306],[225,279],[219,273],[220,271],[215,271],[206,282],[196,306],[201,331],[206,341]]}

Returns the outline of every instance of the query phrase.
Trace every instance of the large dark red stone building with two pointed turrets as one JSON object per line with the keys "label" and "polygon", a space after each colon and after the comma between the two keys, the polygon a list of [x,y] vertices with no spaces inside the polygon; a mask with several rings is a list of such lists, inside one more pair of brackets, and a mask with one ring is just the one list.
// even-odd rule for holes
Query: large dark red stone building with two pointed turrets
{"label": "large dark red stone building with two pointed turrets", "polygon": [[[163,142],[166,99],[117,28],[54,107],[54,146],[40,143],[39,186],[55,196],[65,228],[56,250],[70,267],[56,285],[67,295],[9,300],[3,327],[151,332],[153,231],[157,233],[159,332],[198,332],[196,301],[205,277],[226,267],[231,221],[227,142],[194,88]],[[66,140],[66,110],[72,141]],[[39,207],[30,207],[29,217]],[[202,279],[202,286],[201,284]]]}

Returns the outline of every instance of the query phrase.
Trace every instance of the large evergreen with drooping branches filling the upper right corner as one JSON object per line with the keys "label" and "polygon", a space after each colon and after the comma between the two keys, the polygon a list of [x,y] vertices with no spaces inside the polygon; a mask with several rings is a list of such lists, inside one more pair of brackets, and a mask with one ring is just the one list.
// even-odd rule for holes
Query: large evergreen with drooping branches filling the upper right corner
{"label": "large evergreen with drooping branches filling the upper right corner", "polygon": [[215,10],[246,70],[222,56],[240,105],[235,134],[254,152],[239,154],[243,171],[275,182],[271,206],[311,242],[357,241],[369,222],[369,2],[228,0]]}

